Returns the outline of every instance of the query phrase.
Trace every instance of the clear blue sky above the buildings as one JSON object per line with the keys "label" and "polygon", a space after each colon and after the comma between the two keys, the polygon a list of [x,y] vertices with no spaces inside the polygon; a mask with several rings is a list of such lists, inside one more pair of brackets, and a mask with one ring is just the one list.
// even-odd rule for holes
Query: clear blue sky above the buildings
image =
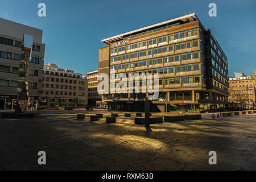
{"label": "clear blue sky above the buildings", "polygon": [[[0,0],[0,17],[43,30],[45,63],[87,73],[98,68],[102,39],[196,13],[228,56],[229,76],[256,71],[255,0]],[[46,3],[46,17],[38,4]],[[209,3],[217,5],[210,17]],[[1,28],[1,27],[0,27]]]}

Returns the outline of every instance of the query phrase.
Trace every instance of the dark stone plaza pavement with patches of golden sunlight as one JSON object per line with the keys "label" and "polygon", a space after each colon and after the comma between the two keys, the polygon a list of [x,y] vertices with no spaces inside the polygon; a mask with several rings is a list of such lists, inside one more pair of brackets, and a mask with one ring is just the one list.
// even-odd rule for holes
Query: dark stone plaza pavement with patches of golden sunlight
{"label": "dark stone plaza pavement with patches of golden sunlight", "polygon": [[[0,170],[256,170],[256,114],[144,126],[134,115],[102,110],[42,110],[0,118]],[[76,114],[104,113],[100,121]],[[117,123],[106,116],[118,113]],[[165,113],[153,113],[166,115]],[[38,152],[46,152],[46,165]],[[209,151],[217,164],[209,165]]]}

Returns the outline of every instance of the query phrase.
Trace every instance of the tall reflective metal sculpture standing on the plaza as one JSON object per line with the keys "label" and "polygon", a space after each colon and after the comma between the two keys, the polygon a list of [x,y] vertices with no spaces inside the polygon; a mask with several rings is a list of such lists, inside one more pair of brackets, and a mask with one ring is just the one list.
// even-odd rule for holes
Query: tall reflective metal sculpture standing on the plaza
{"label": "tall reflective metal sculpture standing on the plaza", "polygon": [[33,36],[24,34],[22,42],[22,50],[20,53],[19,71],[18,71],[18,89],[15,113],[23,113],[26,111],[28,103],[28,64],[31,58],[33,46]]}

